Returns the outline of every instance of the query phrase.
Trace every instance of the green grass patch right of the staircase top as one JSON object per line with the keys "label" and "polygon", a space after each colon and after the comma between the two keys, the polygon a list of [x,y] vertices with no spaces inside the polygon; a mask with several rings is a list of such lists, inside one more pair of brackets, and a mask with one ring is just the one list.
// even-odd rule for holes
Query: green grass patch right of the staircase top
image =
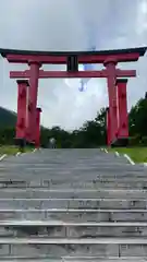
{"label": "green grass patch right of the staircase top", "polygon": [[115,147],[108,151],[127,154],[135,163],[147,163],[147,147]]}

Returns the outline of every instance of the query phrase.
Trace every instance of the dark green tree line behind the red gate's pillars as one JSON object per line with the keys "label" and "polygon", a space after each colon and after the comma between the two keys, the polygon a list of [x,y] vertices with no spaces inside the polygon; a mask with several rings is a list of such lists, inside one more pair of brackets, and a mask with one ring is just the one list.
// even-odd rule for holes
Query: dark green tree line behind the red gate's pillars
{"label": "dark green tree line behind the red gate's pillars", "polygon": [[[140,98],[128,112],[130,145],[147,145],[147,95]],[[0,126],[0,144],[13,145],[15,127]],[[42,147],[48,147],[49,139],[57,140],[59,148],[88,148],[107,144],[106,108],[101,108],[94,120],[72,132],[60,127],[47,129],[41,127],[40,141]]]}

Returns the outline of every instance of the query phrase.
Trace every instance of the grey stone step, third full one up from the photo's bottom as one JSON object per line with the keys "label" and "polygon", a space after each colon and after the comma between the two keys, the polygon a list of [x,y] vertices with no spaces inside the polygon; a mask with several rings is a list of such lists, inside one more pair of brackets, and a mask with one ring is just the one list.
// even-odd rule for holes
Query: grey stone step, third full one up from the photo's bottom
{"label": "grey stone step, third full one up from the photo's bottom", "polygon": [[147,210],[0,210],[0,219],[58,219],[65,222],[146,222]]}

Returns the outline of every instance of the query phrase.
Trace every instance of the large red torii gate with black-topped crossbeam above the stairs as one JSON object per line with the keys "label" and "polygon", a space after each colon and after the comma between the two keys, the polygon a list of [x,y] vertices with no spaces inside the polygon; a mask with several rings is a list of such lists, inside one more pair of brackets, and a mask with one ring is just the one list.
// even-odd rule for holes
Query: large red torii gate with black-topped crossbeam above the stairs
{"label": "large red torii gate with black-topped crossbeam above the stairs", "polygon": [[[119,78],[136,76],[135,70],[120,70],[117,67],[119,62],[137,61],[144,56],[146,47],[103,50],[103,51],[77,51],[77,52],[50,52],[50,51],[27,51],[0,49],[2,57],[11,63],[27,63],[28,70],[10,72],[12,79],[28,79],[28,130],[32,141],[36,132],[36,106],[38,80],[47,78],[107,78],[109,95],[109,144],[115,144],[118,140],[127,139],[127,112],[126,95],[121,95],[121,88],[117,88]],[[101,71],[78,71],[79,63],[102,63],[106,69]],[[44,71],[39,70],[42,64],[66,64],[66,71]],[[122,86],[122,85],[121,85]],[[117,92],[118,90],[118,92]],[[125,100],[121,103],[121,99]],[[125,98],[124,98],[125,97]],[[121,111],[123,110],[123,118]],[[124,114],[125,112],[125,114]],[[122,120],[123,119],[123,120]],[[124,123],[125,122],[125,123]],[[122,127],[121,127],[121,126]],[[123,129],[123,131],[122,131]],[[125,132],[124,132],[125,129]],[[124,138],[125,133],[125,138]]]}

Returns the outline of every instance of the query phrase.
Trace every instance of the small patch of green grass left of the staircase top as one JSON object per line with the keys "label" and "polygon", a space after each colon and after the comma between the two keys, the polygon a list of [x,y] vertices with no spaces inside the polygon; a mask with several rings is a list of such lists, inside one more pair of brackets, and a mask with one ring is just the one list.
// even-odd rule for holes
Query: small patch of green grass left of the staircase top
{"label": "small patch of green grass left of the staircase top", "polygon": [[[30,152],[33,148],[30,147],[25,147],[24,152]],[[15,155],[17,152],[20,152],[20,148],[14,145],[3,145],[0,146],[0,155]]]}

